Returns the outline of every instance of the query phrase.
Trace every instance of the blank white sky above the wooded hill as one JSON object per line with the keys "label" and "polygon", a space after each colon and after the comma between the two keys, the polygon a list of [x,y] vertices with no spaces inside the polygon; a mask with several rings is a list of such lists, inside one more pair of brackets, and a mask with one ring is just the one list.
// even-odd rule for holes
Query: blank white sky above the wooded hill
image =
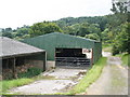
{"label": "blank white sky above the wooded hill", "polygon": [[0,28],[110,13],[112,0],[0,0]]}

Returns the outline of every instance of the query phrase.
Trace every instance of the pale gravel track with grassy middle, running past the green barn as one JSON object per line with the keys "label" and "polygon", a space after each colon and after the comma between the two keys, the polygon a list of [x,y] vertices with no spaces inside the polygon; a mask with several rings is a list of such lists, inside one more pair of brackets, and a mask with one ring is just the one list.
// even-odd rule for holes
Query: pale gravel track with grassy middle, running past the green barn
{"label": "pale gravel track with grassy middle, running past the green barn", "polygon": [[107,65],[83,95],[128,95],[128,69],[121,66],[119,57],[105,52],[104,55],[107,56]]}

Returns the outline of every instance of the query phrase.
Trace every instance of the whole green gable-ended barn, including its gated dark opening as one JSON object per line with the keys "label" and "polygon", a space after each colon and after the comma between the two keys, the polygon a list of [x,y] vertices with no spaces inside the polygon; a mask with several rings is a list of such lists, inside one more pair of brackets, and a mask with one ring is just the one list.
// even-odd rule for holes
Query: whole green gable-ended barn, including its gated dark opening
{"label": "whole green gable-ended barn, including its gated dark opening", "polygon": [[102,56],[102,43],[70,34],[52,32],[23,42],[47,51],[48,67],[86,66]]}

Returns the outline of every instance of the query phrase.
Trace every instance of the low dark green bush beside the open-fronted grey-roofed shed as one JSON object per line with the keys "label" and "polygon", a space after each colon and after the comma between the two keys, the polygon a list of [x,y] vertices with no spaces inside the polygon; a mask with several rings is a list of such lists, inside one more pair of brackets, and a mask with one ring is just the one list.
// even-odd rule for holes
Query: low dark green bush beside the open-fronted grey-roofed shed
{"label": "low dark green bush beside the open-fronted grey-roofed shed", "polygon": [[27,72],[18,73],[18,78],[31,78],[40,74],[41,72],[42,72],[41,69],[32,67],[32,68],[29,68]]}

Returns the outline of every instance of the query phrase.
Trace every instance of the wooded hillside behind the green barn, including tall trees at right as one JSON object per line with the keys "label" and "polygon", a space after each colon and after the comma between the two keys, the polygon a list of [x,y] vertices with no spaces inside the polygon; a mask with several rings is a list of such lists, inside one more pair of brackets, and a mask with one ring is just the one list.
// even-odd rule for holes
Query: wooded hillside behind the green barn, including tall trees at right
{"label": "wooded hillside behind the green barn, including tall trees at right", "polygon": [[0,29],[0,34],[16,40],[32,38],[50,32],[102,41],[113,45],[113,55],[127,52],[130,54],[130,2],[113,2],[113,14],[105,16],[66,17],[58,20],[35,23],[32,26],[17,27],[17,29]]}

